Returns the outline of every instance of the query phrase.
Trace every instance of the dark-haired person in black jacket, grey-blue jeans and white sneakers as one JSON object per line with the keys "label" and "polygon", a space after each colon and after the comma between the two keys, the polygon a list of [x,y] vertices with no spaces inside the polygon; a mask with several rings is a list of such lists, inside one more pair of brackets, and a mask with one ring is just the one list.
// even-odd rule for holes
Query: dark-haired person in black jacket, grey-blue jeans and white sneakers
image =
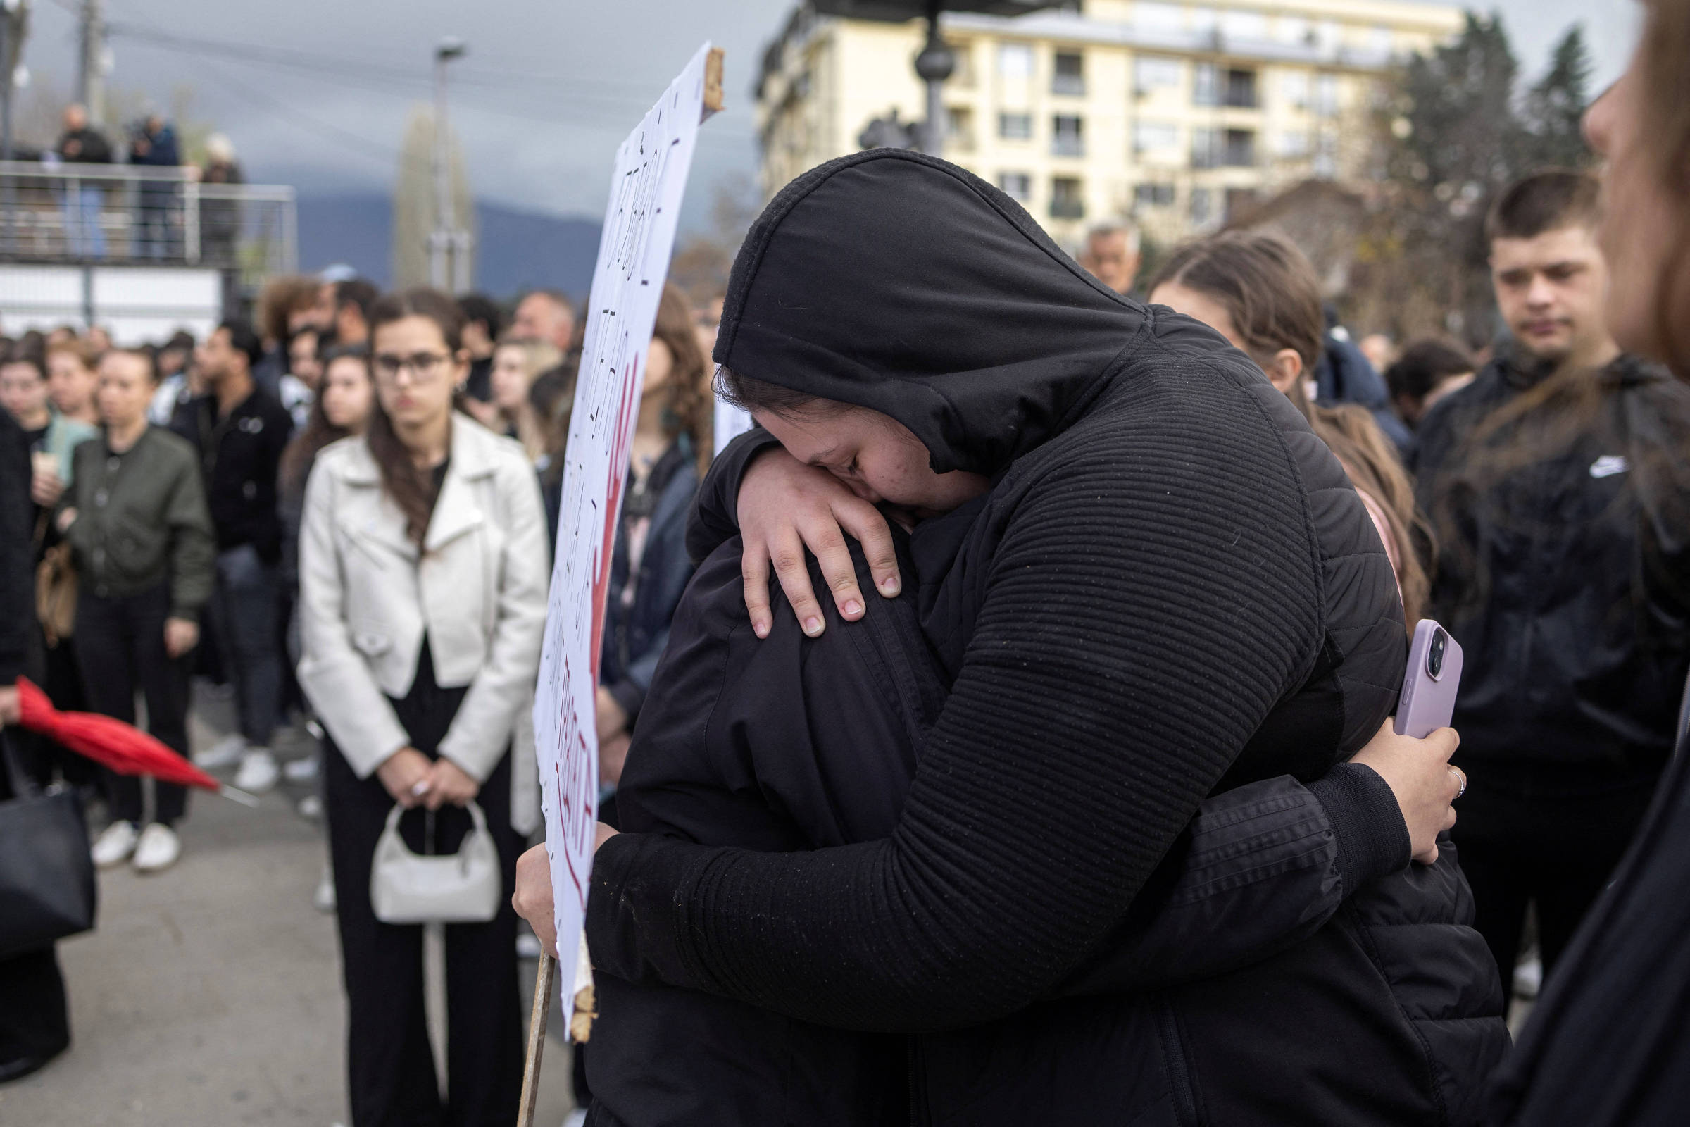
{"label": "dark-haired person in black jacket, grey-blue jeans and white sneakers", "polygon": [[199,451],[204,470],[218,551],[211,623],[240,713],[240,732],[196,762],[216,767],[240,760],[235,786],[252,792],[269,791],[279,776],[270,754],[282,708],[275,470],[294,426],[287,409],[252,378],[262,351],[245,321],[220,324],[194,353],[211,390],[183,406],[171,424]]}

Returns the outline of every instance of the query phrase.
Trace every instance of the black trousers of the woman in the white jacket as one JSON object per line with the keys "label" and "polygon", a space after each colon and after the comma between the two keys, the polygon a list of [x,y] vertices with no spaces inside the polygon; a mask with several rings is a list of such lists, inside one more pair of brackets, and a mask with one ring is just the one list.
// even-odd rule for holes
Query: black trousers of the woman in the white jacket
{"label": "black trousers of the woman in the white jacket", "polygon": [[[417,750],[433,755],[431,747]],[[375,776],[358,779],[328,740],[323,782],[350,1014],[353,1127],[509,1127],[522,1086],[517,916],[510,907],[521,843],[510,828],[510,757],[477,799],[504,870],[499,916],[485,924],[446,924],[444,1103],[422,1009],[422,928],[384,924],[370,907],[370,865],[394,801]],[[433,818],[434,852],[456,852],[470,830],[468,811],[446,808]],[[406,843],[424,852],[428,813],[407,811],[399,826]]]}

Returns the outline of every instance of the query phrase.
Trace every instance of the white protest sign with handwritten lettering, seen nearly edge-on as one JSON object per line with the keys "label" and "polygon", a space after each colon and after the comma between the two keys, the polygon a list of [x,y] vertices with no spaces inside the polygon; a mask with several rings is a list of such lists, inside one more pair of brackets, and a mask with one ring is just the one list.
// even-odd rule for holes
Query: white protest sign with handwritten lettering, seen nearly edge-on
{"label": "white protest sign with handwritten lettering, seen nearly edge-on", "polygon": [[558,911],[558,966],[563,970],[558,978],[566,1014],[575,997],[598,821],[595,694],[605,586],[646,382],[646,350],[657,321],[703,115],[708,54],[706,42],[617,149],[570,417],[558,559],[534,696],[546,852]]}

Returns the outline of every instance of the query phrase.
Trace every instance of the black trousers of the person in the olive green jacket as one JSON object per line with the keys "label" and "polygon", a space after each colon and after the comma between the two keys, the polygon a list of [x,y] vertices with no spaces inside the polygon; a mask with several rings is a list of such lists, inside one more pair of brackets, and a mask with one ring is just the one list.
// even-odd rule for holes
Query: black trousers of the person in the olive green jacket
{"label": "black trousers of the person in the olive green jacket", "polygon": [[[76,600],[76,659],[83,667],[88,708],[135,723],[135,689],[147,700],[147,732],[172,752],[188,757],[188,661],[164,649],[164,620],[171,617],[171,590],[101,598],[83,588]],[[139,823],[144,816],[140,779],[106,772],[112,818]],[[174,823],[188,811],[188,787],[159,782],[154,787],[154,821]]]}

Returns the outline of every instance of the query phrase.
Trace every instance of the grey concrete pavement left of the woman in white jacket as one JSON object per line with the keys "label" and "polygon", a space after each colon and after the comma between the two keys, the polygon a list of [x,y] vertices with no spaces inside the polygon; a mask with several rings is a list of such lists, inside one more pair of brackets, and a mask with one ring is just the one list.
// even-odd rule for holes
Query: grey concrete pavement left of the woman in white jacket
{"label": "grey concrete pavement left of the woman in white jacket", "polygon": [[[226,711],[196,710],[196,747]],[[225,723],[208,727],[208,713]],[[303,738],[279,745],[306,750]],[[0,1086],[0,1124],[348,1122],[340,946],[335,917],[311,906],[326,850],[294,813],[304,792],[282,786],[247,809],[196,791],[174,868],[100,875],[98,929],[59,945],[71,1049]],[[527,994],[532,963],[519,973]],[[541,1127],[571,1108],[568,1059],[566,1046],[548,1048]]]}

